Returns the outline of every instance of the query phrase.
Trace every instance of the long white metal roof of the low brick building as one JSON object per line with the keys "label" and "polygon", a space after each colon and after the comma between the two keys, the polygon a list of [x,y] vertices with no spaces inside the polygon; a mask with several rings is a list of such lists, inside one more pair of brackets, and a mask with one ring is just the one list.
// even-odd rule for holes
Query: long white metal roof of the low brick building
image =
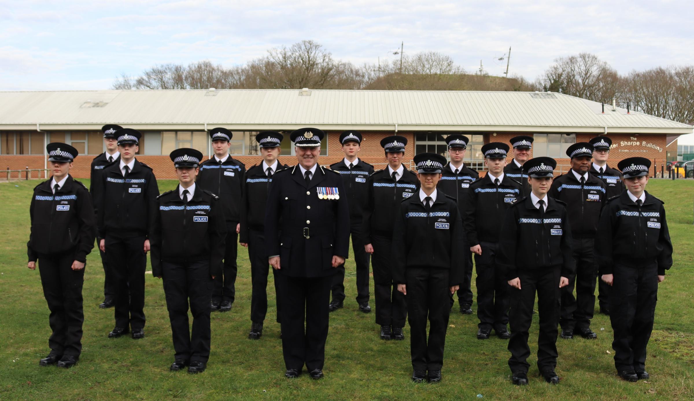
{"label": "long white metal roof of the low brick building", "polygon": [[693,127],[548,92],[311,89],[0,92],[0,130],[467,130],[688,134]]}

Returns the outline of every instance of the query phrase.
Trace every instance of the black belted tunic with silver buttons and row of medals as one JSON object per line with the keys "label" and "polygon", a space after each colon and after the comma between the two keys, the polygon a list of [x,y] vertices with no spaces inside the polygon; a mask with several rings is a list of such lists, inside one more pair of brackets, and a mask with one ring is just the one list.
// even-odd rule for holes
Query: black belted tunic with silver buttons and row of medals
{"label": "black belted tunic with silver buttons and row of medals", "polygon": [[[318,189],[337,188],[339,199],[321,199]],[[280,255],[279,273],[324,277],[335,273],[332,256],[348,256],[349,207],[342,178],[316,167],[309,185],[301,169],[278,171],[272,178],[265,212],[268,256]]]}

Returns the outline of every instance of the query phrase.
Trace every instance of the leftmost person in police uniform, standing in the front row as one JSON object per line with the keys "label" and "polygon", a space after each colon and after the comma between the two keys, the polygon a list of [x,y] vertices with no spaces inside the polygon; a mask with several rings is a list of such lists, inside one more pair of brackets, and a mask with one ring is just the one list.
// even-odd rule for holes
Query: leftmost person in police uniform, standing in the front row
{"label": "leftmost person in police uniform, standing in the front row", "polygon": [[53,176],[34,187],[29,207],[27,267],[34,270],[38,260],[44,297],[51,311],[51,352],[39,364],[69,368],[82,352],[82,284],[87,254],[94,248],[96,224],[87,187],[69,174],[77,150],[53,142],[46,151]]}

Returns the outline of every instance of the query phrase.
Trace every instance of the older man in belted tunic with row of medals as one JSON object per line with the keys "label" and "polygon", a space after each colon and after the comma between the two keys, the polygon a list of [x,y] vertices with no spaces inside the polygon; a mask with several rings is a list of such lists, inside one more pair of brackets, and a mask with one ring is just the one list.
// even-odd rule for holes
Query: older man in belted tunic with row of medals
{"label": "older man in belted tunic with row of medals", "polygon": [[[273,176],[265,214],[265,247],[278,271],[286,377],[323,377],[328,300],[335,268],[349,249],[349,207],[338,173],[318,164],[317,128],[291,133],[298,164]],[[305,326],[304,326],[305,323]]]}

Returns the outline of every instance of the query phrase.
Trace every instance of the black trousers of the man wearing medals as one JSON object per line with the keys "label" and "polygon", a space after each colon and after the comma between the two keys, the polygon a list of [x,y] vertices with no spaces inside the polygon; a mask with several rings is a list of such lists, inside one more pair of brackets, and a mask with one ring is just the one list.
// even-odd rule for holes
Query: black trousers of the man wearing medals
{"label": "black trousers of the man wearing medals", "polygon": [[[276,276],[282,296],[282,355],[287,369],[323,369],[332,275]],[[305,323],[305,325],[304,325]]]}

